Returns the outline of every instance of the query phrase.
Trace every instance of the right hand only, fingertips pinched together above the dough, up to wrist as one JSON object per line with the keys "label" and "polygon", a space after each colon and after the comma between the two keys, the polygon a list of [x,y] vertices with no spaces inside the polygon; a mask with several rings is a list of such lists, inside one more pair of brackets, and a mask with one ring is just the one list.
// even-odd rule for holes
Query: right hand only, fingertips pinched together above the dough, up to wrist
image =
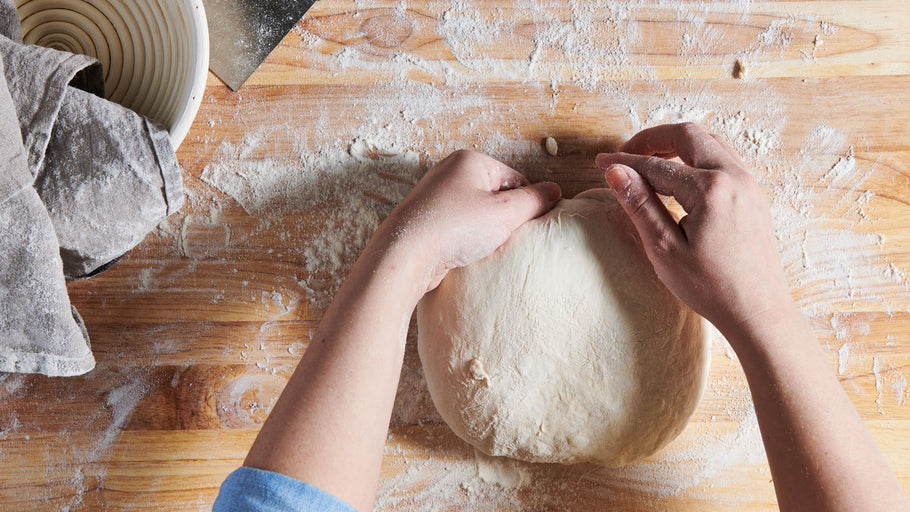
{"label": "right hand only, fingertips pinched together above the dough, up to wrist", "polygon": [[[639,132],[620,151],[597,166],[670,291],[725,334],[792,313],[767,199],[726,142],[683,123]],[[676,222],[655,192],[687,215]]]}

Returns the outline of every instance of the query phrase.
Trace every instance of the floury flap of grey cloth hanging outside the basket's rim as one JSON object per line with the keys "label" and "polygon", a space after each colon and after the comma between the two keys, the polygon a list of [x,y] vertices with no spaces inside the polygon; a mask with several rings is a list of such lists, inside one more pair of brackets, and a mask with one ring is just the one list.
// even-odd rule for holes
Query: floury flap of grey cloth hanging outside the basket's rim
{"label": "floury flap of grey cloth hanging outside the basket's rim", "polygon": [[66,277],[104,269],[183,205],[167,132],[116,103],[67,88],[38,171]]}

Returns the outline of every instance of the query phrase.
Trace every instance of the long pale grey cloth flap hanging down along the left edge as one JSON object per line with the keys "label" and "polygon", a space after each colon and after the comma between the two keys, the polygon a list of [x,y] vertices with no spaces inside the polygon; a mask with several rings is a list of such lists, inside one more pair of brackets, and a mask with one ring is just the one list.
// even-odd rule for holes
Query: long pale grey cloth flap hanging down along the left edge
{"label": "long pale grey cloth flap hanging down along the left edge", "polygon": [[66,294],[57,237],[31,187],[16,119],[0,80],[0,371],[80,375],[95,359]]}

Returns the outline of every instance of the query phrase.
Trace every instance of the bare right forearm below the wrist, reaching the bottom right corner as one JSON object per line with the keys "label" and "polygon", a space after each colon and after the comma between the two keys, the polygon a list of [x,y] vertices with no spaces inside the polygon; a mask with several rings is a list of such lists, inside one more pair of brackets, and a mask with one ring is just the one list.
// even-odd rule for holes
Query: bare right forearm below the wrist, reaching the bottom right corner
{"label": "bare right forearm below the wrist, reaching the bottom right corner", "polygon": [[749,381],[781,510],[910,509],[795,306],[725,335]]}

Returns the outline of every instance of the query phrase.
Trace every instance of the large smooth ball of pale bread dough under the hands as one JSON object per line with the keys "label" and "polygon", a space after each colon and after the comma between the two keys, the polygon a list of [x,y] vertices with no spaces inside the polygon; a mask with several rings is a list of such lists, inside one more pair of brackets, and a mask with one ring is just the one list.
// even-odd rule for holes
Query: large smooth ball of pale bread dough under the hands
{"label": "large smooth ball of pale bread dough under the hands", "polygon": [[706,324],[657,279],[606,189],[450,271],[417,322],[436,408],[489,455],[622,465],[676,437],[705,387]]}

